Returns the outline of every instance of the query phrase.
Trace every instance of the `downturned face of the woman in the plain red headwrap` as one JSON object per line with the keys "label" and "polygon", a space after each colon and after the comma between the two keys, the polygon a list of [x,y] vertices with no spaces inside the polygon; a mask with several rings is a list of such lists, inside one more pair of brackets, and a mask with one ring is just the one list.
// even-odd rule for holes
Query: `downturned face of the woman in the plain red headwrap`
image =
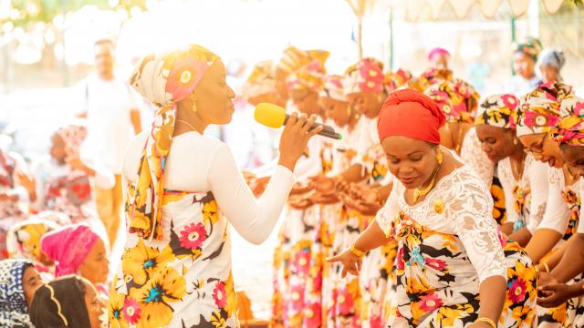
{"label": "downturned face of the woman in the plain red headwrap", "polygon": [[384,138],[381,146],[391,174],[400,179],[405,188],[420,188],[432,178],[437,165],[436,146],[401,136]]}

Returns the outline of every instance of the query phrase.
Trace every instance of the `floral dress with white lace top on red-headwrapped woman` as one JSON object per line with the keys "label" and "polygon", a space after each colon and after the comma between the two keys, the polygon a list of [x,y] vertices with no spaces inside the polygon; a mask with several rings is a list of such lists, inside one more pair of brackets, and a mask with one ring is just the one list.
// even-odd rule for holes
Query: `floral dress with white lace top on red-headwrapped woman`
{"label": "floral dress with white lace top on red-headwrapped woman", "polygon": [[397,311],[389,327],[465,327],[477,319],[479,284],[502,275],[506,301],[498,327],[530,327],[537,276],[527,254],[497,232],[485,184],[462,167],[410,206],[396,182],[377,222],[398,241]]}

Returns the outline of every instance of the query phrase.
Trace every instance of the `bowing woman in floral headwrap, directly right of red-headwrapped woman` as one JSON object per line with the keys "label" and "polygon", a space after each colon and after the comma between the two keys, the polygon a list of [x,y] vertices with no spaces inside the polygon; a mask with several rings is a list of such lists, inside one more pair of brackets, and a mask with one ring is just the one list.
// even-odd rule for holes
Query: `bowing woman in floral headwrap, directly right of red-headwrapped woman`
{"label": "bowing woman in floral headwrap, directly right of red-headwrapped woman", "polygon": [[498,164],[507,209],[502,230],[507,235],[524,226],[534,231],[547,202],[547,165],[527,154],[516,137],[517,105],[513,95],[487,97],[481,105],[482,114],[474,121],[483,151]]}

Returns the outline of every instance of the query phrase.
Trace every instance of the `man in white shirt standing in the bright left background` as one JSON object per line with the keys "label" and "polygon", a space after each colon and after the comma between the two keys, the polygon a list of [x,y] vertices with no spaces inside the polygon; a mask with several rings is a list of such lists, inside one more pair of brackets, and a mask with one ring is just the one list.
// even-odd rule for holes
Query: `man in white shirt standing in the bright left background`
{"label": "man in white shirt standing in the bright left background", "polygon": [[114,245],[120,228],[121,168],[130,139],[141,132],[137,96],[123,80],[114,76],[115,46],[110,39],[100,39],[94,45],[96,74],[81,82],[85,93],[88,137],[82,152],[89,159],[111,170],[116,178],[113,189],[95,187],[99,217]]}

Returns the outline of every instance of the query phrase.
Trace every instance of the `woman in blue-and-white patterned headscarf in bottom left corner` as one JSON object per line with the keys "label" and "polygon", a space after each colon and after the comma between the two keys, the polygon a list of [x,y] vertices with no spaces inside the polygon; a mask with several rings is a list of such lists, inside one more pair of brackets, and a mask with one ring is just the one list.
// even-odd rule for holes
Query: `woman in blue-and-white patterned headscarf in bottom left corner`
{"label": "woman in blue-and-white patterned headscarf in bottom left corner", "polygon": [[26,260],[0,261],[0,326],[34,328],[28,309],[42,284],[33,263]]}

